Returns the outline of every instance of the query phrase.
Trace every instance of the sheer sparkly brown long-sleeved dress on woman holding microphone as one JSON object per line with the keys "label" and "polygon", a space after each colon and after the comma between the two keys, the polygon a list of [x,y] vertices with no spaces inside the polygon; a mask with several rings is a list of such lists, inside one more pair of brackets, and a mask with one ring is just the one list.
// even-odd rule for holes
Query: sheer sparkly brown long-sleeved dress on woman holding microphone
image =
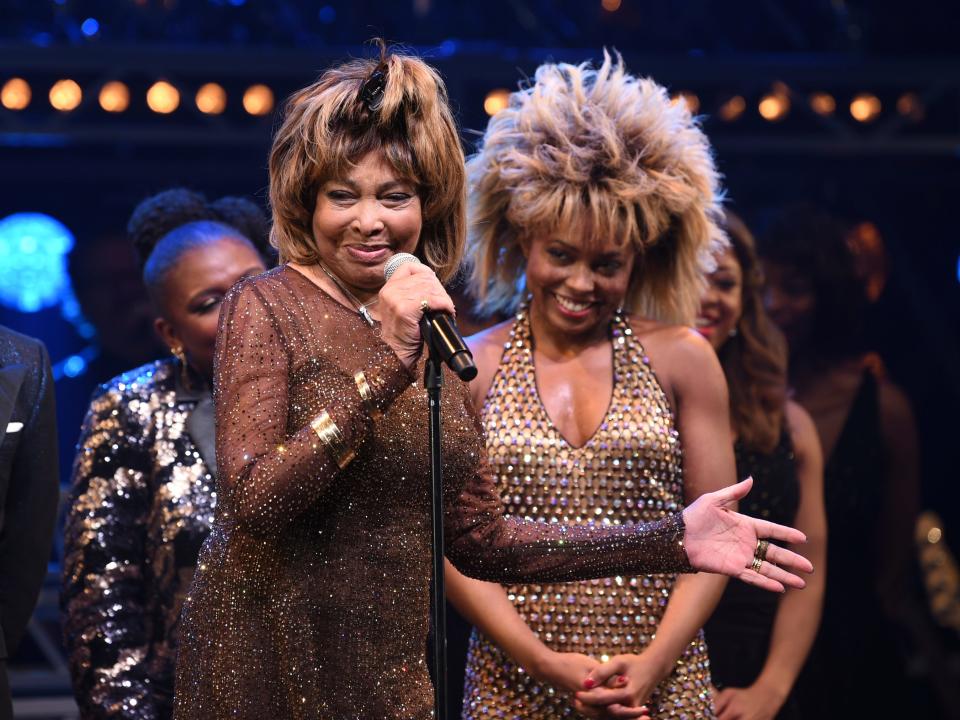
{"label": "sheer sparkly brown long-sleeved dress on woman holding microphone", "polygon": [[[289,267],[234,288],[220,323],[219,502],[185,604],[175,717],[431,717],[422,387],[376,329]],[[342,432],[332,444],[314,430],[324,413]],[[447,554],[463,572],[689,570],[679,514],[633,527],[504,519],[452,375],[443,415]]]}

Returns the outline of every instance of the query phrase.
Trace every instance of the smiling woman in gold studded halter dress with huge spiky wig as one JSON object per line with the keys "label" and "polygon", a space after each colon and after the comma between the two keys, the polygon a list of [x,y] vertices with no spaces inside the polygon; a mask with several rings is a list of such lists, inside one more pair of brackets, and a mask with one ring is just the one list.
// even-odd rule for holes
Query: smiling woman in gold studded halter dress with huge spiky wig
{"label": "smiling woman in gold studded halter dress with huge spiky wig", "polygon": [[[720,188],[687,106],[604,56],[547,64],[468,163],[472,287],[515,317],[470,340],[508,515],[657,522],[735,481],[727,390],[693,325]],[[712,717],[717,575],[468,579],[465,718]]]}

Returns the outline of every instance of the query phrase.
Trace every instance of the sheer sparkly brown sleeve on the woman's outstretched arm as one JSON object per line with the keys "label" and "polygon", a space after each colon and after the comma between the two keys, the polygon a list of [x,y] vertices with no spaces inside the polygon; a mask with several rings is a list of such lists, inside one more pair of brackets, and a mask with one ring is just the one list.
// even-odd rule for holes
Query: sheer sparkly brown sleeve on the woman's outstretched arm
{"label": "sheer sparkly brown sleeve on the woman's outstretched arm", "polygon": [[[472,472],[445,475],[446,555],[458,570],[495,582],[544,583],[612,575],[693,572],[683,547],[683,516],[636,525],[563,525],[503,515],[482,440],[480,420],[459,386],[463,412],[475,430],[464,433]],[[471,440],[471,438],[473,438]]]}

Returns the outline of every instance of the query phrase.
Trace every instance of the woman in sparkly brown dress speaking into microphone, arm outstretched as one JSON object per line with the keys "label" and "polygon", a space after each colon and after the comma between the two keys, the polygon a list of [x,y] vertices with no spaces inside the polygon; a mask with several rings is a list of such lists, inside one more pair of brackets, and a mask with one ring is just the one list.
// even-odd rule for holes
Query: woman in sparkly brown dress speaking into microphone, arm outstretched
{"label": "woman in sparkly brown dress speaking into microphone, arm outstretched", "polygon": [[[418,322],[453,312],[441,280],[464,241],[465,177],[443,84],[391,54],[296,93],[270,156],[282,265],[238,284],[217,341],[218,503],[184,604],[175,715],[432,715],[427,401]],[[415,253],[384,282],[384,264]],[[750,569],[789,528],[728,508],[745,488],[631,527],[504,519],[466,388],[443,406],[447,548],[465,572],[554,581]],[[808,570],[771,546],[771,561]]]}

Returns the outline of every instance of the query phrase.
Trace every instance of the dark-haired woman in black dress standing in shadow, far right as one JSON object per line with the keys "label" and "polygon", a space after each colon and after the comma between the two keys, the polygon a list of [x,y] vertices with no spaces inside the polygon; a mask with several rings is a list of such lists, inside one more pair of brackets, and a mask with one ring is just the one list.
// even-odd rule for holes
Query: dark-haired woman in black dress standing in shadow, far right
{"label": "dark-haired woman in black dress standing in shadow, far right", "polygon": [[[827,589],[800,709],[821,718],[909,715],[897,620],[919,510],[910,404],[866,352],[866,299],[844,225],[814,207],[788,208],[761,249],[767,309],[790,347],[794,399],[813,418],[825,458]],[[863,554],[854,546],[864,542],[866,562],[854,563]]]}

